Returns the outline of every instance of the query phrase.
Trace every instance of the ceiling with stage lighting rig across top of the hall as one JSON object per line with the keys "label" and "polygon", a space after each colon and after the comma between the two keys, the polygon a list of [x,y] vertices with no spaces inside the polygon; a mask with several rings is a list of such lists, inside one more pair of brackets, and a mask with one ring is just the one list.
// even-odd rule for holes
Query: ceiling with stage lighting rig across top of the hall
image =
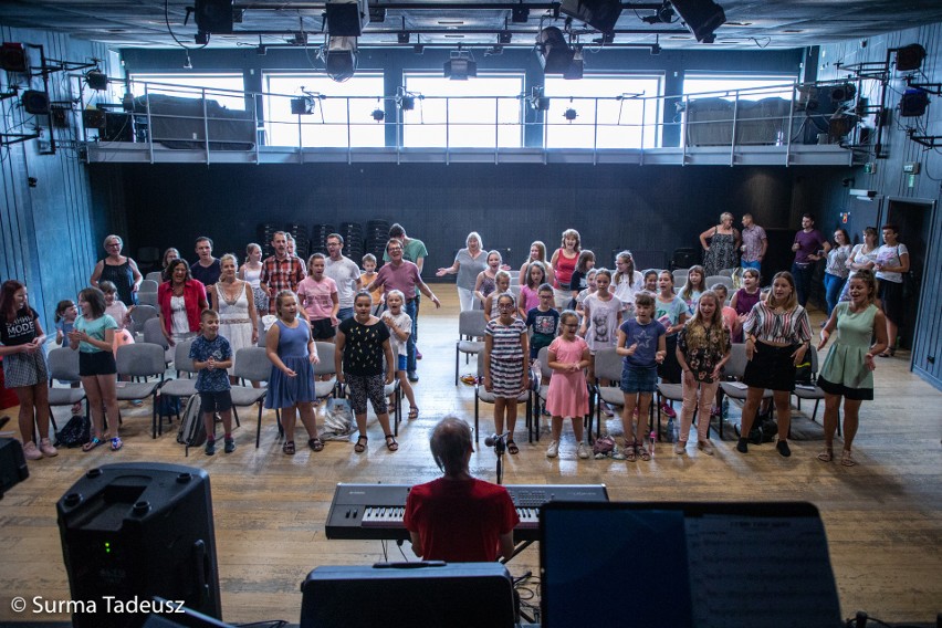
{"label": "ceiling with stage lighting rig across top of the hall", "polygon": [[[116,49],[325,45],[328,35],[356,36],[359,48],[533,46],[548,27],[580,45],[781,49],[864,40],[939,21],[938,0],[0,2],[2,25],[64,32]],[[341,25],[350,34],[337,32]]]}

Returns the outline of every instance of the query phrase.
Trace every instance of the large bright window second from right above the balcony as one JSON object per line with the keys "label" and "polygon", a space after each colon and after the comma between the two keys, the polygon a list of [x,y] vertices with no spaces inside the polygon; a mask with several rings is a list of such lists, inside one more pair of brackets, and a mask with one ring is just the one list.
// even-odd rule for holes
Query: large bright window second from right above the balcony
{"label": "large bright window second from right above the balcony", "polygon": [[657,75],[585,76],[579,81],[547,76],[546,147],[658,146],[661,85]]}

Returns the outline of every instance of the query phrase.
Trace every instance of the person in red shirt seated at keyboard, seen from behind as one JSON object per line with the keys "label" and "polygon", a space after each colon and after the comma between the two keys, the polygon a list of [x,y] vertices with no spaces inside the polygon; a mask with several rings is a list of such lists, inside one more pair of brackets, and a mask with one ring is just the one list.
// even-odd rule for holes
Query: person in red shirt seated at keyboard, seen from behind
{"label": "person in red shirt seated at keyboard, seen from behind", "polygon": [[406,500],[405,524],[412,552],[426,561],[449,563],[510,559],[520,517],[506,489],[471,475],[471,428],[461,419],[446,417],[429,444],[444,475],[412,486]]}

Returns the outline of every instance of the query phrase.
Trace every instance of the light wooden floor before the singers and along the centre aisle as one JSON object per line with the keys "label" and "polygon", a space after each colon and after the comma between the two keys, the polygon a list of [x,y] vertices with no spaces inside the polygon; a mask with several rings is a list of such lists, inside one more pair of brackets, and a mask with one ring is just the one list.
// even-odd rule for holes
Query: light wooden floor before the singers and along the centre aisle
{"label": "light wooden floor before the singers and along the centre aisle", "polygon": [[[448,412],[473,420],[473,388],[453,386],[457,296],[450,286],[436,287],[444,306],[436,312],[426,302],[420,316],[425,357],[416,393],[421,415],[401,427],[397,453],[386,451],[371,412],[367,453],[355,454],[353,443],[328,442],[323,452],[299,448],[294,457],[281,453],[271,412],[257,450],[253,415],[243,412],[234,453],[209,458],[193,451],[184,458],[176,430],[151,440],[149,408],[125,408],[125,448],[119,453],[104,447],[92,453],[62,450],[57,458],[31,463],[29,480],[0,501],[0,621],[67,619],[18,616],[9,598],[67,599],[55,502],[86,470],[109,462],[174,462],[210,473],[223,618],[232,622],[297,621],[299,584],[317,565],[414,559],[408,547],[395,544],[328,541],[324,522],[337,482],[414,483],[437,477],[428,449],[431,426]],[[818,314],[815,323],[819,320]],[[692,449],[677,457],[664,444],[650,462],[578,460],[567,430],[559,458],[551,460],[545,457],[547,435],[527,444],[519,427],[521,452],[506,457],[504,482],[605,483],[613,500],[807,500],[824,516],[844,616],[865,609],[883,620],[928,622],[942,610],[942,393],[909,373],[907,353],[880,359],[878,367],[877,399],[864,405],[855,468],[816,460],[820,412],[818,423],[812,423],[806,405],[807,415],[794,421],[791,459],[781,458],[772,444],[740,454],[728,429],[724,441],[714,437],[712,458]],[[462,359],[461,373],[473,370],[473,360],[465,366]],[[14,418],[11,426],[14,411],[4,412]],[[482,408],[482,435],[492,429],[491,411],[490,406]],[[733,407],[731,414],[737,417],[739,409]],[[620,433],[619,421],[609,420],[608,426]],[[475,474],[493,480],[494,453],[483,442],[471,463]],[[605,551],[590,537],[574,542],[585,543],[586,552]],[[645,568],[632,565],[630,556],[625,561],[626,568]],[[537,574],[536,546],[510,568],[514,576]],[[530,588],[536,590],[533,583]]]}

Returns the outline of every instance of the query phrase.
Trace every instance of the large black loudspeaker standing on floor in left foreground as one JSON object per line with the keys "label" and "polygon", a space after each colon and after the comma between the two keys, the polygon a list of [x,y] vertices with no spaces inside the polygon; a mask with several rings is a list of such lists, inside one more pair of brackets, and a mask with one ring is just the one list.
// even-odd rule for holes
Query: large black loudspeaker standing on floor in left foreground
{"label": "large black loudspeaker standing on floor in left foreground", "polygon": [[154,596],[221,618],[206,471],[106,464],[75,482],[56,511],[75,628],[137,628]]}

